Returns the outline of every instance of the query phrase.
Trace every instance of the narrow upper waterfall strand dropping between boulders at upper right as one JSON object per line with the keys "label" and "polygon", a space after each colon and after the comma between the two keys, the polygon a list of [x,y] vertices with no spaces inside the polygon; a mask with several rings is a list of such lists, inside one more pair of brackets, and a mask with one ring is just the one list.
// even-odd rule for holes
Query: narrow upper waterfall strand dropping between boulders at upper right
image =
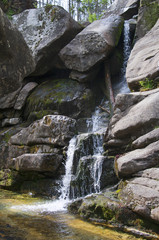
{"label": "narrow upper waterfall strand dropping between boulders at upper right", "polygon": [[130,39],[130,24],[129,21],[124,22],[124,42],[123,42],[123,66],[121,69],[120,81],[114,87],[116,94],[130,92],[126,82],[126,67],[131,52],[131,39]]}

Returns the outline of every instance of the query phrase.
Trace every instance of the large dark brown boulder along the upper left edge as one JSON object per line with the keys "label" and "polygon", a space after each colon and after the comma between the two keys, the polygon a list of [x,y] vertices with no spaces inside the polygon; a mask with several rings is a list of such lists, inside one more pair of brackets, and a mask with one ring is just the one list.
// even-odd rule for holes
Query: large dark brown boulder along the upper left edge
{"label": "large dark brown boulder along the upper left edge", "polygon": [[1,9],[0,35],[0,109],[5,109],[14,106],[23,79],[34,71],[35,64],[22,34]]}

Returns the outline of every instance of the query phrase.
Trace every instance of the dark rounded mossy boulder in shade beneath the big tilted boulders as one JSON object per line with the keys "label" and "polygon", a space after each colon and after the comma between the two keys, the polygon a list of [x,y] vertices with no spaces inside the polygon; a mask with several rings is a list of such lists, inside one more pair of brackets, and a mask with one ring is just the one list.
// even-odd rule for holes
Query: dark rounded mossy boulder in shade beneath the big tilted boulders
{"label": "dark rounded mossy boulder in shade beneath the big tilted boulders", "polygon": [[40,84],[28,97],[24,114],[27,118],[35,113],[34,120],[48,114],[87,117],[94,106],[95,96],[86,85],[71,79],[50,79]]}

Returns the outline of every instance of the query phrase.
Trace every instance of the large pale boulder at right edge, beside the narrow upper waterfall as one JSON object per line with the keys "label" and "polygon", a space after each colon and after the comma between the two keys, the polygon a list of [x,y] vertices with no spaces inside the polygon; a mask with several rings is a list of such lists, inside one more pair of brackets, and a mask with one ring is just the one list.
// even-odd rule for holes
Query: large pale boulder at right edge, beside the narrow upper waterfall
{"label": "large pale boulder at right edge, beside the narrow upper waterfall", "polygon": [[139,88],[139,81],[155,80],[159,76],[159,20],[143,38],[135,44],[126,69],[129,88]]}

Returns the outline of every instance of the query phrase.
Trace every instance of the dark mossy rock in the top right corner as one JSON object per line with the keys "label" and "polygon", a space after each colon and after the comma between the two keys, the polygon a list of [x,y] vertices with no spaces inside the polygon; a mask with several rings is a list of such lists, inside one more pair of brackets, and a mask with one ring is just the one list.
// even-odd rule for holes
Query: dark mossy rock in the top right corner
{"label": "dark mossy rock in the top right corner", "polygon": [[136,26],[136,38],[142,38],[159,18],[158,0],[141,0]]}

